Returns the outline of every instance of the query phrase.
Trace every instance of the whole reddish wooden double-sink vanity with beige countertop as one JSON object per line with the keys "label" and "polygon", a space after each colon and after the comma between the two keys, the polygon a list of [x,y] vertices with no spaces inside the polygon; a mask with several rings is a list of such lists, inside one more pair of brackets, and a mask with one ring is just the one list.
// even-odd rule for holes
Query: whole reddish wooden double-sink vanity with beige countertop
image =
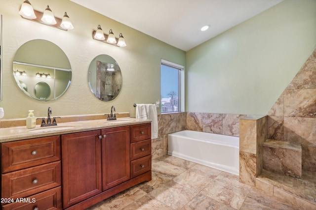
{"label": "whole reddish wooden double-sink vanity with beige countertop", "polygon": [[0,136],[2,210],[86,209],[152,179],[150,120],[1,128]]}

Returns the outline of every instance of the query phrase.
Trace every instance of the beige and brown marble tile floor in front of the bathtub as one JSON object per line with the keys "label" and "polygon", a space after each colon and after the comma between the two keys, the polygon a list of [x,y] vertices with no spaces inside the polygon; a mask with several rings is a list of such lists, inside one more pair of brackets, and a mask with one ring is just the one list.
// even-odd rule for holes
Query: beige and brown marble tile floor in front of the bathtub
{"label": "beige and brown marble tile floor in front of the bathtub", "polygon": [[[165,155],[152,162],[152,180],[88,210],[298,210],[238,176]],[[308,208],[306,208],[308,209]]]}

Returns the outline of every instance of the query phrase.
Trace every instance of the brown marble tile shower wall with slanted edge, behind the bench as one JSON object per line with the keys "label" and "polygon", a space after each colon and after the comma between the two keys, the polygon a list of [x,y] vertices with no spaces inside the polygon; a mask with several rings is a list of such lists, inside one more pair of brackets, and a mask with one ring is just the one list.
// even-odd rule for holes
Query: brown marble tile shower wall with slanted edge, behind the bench
{"label": "brown marble tile shower wall with slanted edge, behind the bench", "polygon": [[300,143],[303,170],[316,172],[316,50],[268,112],[269,139]]}

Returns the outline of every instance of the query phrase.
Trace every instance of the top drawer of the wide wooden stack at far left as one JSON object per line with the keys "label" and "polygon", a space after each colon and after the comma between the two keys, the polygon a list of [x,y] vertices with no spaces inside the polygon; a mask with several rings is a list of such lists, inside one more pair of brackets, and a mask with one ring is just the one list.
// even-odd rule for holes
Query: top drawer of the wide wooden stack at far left
{"label": "top drawer of the wide wooden stack at far left", "polygon": [[1,144],[2,173],[60,160],[60,136]]}

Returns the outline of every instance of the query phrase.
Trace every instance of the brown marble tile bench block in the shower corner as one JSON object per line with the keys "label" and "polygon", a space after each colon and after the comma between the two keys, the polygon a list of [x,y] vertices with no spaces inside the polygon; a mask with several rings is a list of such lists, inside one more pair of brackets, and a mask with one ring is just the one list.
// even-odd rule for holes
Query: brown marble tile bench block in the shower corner
{"label": "brown marble tile bench block in the shower corner", "polygon": [[302,178],[301,144],[268,139],[263,144],[263,169]]}

